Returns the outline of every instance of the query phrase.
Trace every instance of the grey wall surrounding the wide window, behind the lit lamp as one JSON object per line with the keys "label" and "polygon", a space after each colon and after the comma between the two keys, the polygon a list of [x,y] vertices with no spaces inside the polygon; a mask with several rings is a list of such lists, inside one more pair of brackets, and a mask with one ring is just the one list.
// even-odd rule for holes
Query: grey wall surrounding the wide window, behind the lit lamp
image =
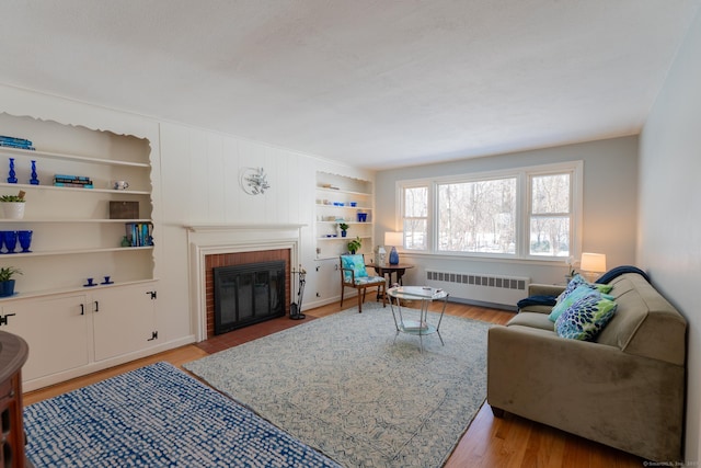
{"label": "grey wall surrounding the wide window, behind the lit lamp", "polygon": [[[584,161],[583,249],[606,253],[609,267],[635,263],[637,222],[637,137],[568,145],[508,155],[466,159],[443,164],[388,170],[377,174],[376,239],[401,228],[395,219],[395,183],[400,180],[468,174],[562,161]],[[446,259],[440,255],[404,253],[418,265],[407,271],[412,281],[426,267],[495,275],[518,275],[533,283],[562,283],[565,261],[526,262],[484,259]],[[417,279],[418,281],[418,279]]]}

